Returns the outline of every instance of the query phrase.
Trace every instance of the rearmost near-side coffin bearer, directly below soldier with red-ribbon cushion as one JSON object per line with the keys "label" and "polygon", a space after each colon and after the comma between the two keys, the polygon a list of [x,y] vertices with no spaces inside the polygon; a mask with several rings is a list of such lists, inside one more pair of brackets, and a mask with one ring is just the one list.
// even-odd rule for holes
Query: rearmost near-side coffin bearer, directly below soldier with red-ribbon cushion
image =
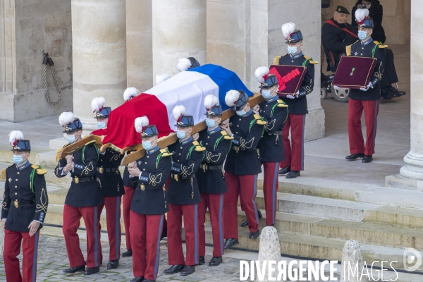
{"label": "rearmost near-side coffin bearer, directly below soldier with red-ribbon cushion", "polygon": [[269,68],[260,67],[255,71],[257,80],[262,84],[262,96],[266,101],[259,104],[260,116],[266,121],[264,135],[259,142],[262,157],[264,181],[264,206],[266,226],[274,226],[276,219],[279,162],[285,159],[282,142],[283,124],[288,118],[288,106],[278,99],[278,80],[269,75]]}

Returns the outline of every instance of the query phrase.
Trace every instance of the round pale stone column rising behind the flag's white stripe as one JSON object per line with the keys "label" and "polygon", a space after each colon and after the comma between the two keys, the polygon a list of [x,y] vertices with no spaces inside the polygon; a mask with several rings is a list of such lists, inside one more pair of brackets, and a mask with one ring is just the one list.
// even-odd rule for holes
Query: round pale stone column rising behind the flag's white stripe
{"label": "round pale stone column rising behind the flag's white stripe", "polygon": [[183,57],[206,63],[206,0],[154,0],[152,23],[153,78],[176,75]]}

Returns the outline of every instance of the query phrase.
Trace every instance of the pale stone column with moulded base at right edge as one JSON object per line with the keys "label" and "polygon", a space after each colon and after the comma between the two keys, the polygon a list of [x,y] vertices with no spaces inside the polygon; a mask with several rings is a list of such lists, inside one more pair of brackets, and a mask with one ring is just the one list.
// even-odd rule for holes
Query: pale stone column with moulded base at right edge
{"label": "pale stone column with moulded base at right edge", "polygon": [[423,2],[411,1],[411,44],[410,44],[410,152],[404,157],[406,163],[400,169],[402,176],[423,180],[423,16],[419,11]]}

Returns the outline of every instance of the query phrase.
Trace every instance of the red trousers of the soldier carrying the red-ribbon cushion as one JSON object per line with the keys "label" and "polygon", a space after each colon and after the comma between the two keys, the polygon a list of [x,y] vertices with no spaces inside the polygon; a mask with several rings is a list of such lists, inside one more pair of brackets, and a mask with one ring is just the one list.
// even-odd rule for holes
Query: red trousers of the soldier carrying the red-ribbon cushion
{"label": "red trousers of the soldier carrying the red-ribbon cushion", "polygon": [[[281,161],[281,168],[290,166],[291,171],[304,171],[304,128],[305,114],[288,115],[282,130],[285,161]],[[291,140],[289,140],[289,130]]]}

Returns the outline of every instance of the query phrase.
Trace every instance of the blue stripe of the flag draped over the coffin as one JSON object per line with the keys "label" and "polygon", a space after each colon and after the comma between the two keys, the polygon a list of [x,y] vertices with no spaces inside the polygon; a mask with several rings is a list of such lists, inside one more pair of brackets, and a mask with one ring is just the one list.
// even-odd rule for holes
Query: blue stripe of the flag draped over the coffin
{"label": "blue stripe of the flag draped over the coffin", "polygon": [[207,75],[217,86],[219,86],[219,102],[223,111],[229,109],[228,105],[225,103],[225,95],[229,90],[243,90],[248,97],[253,95],[244,85],[243,81],[238,78],[238,75],[233,71],[229,71],[227,68],[207,63],[207,65],[192,68],[188,71],[196,71],[197,73]]}

